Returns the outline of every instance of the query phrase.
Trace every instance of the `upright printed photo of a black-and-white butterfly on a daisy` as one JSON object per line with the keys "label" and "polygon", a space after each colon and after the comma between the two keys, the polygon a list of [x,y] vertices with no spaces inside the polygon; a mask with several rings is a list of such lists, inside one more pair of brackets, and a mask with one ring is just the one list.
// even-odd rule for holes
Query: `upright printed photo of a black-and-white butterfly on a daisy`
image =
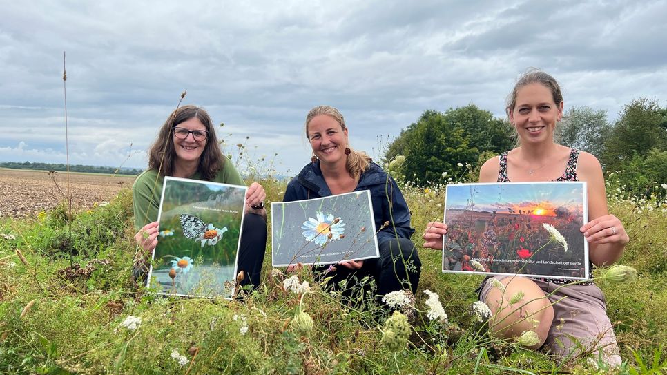
{"label": "upright printed photo of a black-and-white butterfly on a daisy", "polygon": [[148,286],[157,285],[161,294],[231,298],[246,191],[246,186],[164,177]]}

